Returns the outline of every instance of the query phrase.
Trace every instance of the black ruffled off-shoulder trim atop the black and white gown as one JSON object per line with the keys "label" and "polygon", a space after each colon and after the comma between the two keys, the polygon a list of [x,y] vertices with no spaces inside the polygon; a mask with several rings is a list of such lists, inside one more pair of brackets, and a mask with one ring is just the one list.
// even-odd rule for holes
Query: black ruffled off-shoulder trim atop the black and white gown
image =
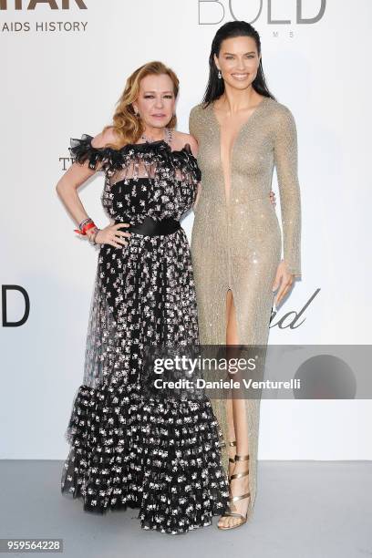
{"label": "black ruffled off-shoulder trim atop the black and white gown", "polygon": [[164,140],[151,143],[129,143],[119,150],[109,147],[97,148],[92,145],[93,136],[82,134],[81,138],[71,138],[68,148],[72,160],[84,163],[88,160],[89,169],[96,170],[98,161],[102,162],[102,171],[119,171],[133,159],[159,160],[169,162],[174,169],[191,172],[195,181],[202,180],[202,172],[196,158],[192,155],[190,144],[181,150],[171,150],[171,146]]}

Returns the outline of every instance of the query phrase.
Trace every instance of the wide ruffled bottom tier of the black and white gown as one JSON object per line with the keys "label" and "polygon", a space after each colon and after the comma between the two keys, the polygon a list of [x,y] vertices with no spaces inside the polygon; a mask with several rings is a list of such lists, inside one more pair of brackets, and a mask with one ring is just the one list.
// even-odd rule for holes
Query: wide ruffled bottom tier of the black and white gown
{"label": "wide ruffled bottom tier of the black and white gown", "polygon": [[61,490],[85,511],[139,508],[144,529],[176,534],[221,515],[228,483],[210,401],[145,400],[118,386],[80,386]]}

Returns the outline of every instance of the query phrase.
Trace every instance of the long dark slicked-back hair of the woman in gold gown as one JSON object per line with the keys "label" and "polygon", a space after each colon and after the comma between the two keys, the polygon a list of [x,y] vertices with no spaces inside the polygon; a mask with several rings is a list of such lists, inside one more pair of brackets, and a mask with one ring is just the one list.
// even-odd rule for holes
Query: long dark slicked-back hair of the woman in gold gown
{"label": "long dark slicked-back hair of the woman in gold gown", "polygon": [[[204,97],[202,98],[202,102],[205,105],[204,108],[208,107],[208,105],[210,105],[216,98],[221,97],[224,92],[223,79],[218,78],[218,69],[214,62],[214,55],[216,55],[216,57],[219,56],[222,41],[235,36],[252,36],[257,47],[258,55],[261,54],[260,36],[251,24],[246,21],[229,21],[224,24],[224,26],[220,27],[212,40],[211,55],[209,57],[210,75]],[[269,88],[266,85],[263,74],[262,58],[257,70],[257,76],[254,78],[252,86],[253,89],[260,95],[263,95],[263,97],[274,98],[274,95],[270,93]],[[276,99],[274,98],[274,100]]]}

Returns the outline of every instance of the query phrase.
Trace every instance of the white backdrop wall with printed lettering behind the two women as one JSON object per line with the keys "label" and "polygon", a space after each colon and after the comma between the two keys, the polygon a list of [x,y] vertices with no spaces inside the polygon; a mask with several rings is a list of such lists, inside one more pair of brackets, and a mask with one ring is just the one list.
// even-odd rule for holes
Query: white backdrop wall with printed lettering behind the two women
{"label": "white backdrop wall with printed lettering behind the two women", "polygon": [[[298,131],[303,279],[275,316],[270,343],[370,344],[371,16],[369,0],[0,0],[0,281],[30,302],[23,325],[1,328],[1,458],[67,453],[98,258],[55,190],[71,162],[69,139],[109,123],[129,73],[152,59],[181,79],[179,129],[188,131],[212,37],[233,17],[259,31],[269,88]],[[103,180],[99,173],[79,190],[100,227]],[[280,212],[275,180],[274,191]],[[182,225],[191,240],[192,215]],[[17,322],[24,295],[7,291],[3,322],[5,300]],[[304,307],[302,325],[277,325]],[[261,418],[261,460],[372,459],[367,400],[265,400]]]}

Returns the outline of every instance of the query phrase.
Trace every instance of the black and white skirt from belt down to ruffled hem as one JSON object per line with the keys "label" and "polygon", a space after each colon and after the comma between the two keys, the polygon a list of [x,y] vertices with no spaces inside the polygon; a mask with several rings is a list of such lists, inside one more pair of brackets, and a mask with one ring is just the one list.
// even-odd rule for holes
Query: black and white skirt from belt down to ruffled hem
{"label": "black and white skirt from belt down to ruffled hem", "polygon": [[146,347],[182,348],[198,338],[183,230],[133,233],[122,250],[101,245],[61,480],[61,491],[80,497],[85,511],[139,508],[142,528],[171,534],[222,514],[229,490],[211,401],[146,391],[153,379]]}

